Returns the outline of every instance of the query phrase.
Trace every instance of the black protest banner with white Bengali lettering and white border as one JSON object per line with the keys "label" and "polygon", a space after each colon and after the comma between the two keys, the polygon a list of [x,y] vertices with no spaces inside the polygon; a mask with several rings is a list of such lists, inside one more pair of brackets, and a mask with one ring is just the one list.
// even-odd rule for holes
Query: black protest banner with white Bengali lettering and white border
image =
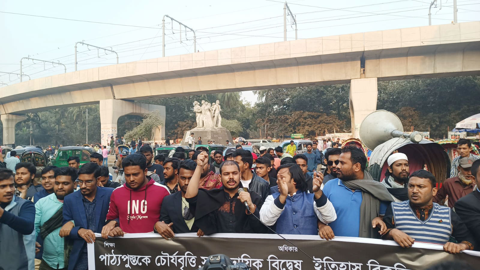
{"label": "black protest banner with white Bengali lettering and white border", "polygon": [[285,237],[296,246],[274,234],[221,233],[199,238],[195,233],[184,233],[173,240],[155,233],[125,234],[108,240],[98,235],[96,242],[88,245],[88,264],[90,270],[196,270],[213,254],[225,254],[253,270],[413,270],[454,259],[472,266],[480,263],[480,252],[451,255],[443,251],[442,245],[415,243],[404,249],[393,241],[378,239]]}

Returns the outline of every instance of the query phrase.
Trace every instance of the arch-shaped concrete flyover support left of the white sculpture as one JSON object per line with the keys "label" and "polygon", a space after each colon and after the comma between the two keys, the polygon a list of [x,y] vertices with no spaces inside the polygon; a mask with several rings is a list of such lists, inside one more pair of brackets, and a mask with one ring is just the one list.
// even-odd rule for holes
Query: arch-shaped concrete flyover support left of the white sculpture
{"label": "arch-shaped concrete flyover support left of the white sculpture", "polygon": [[[158,110],[160,119],[164,125],[159,126],[152,139],[163,140],[165,138],[165,106],[125,101],[120,99],[100,100],[100,142],[102,145],[110,143],[110,137],[117,136],[117,122],[123,115],[133,114],[143,116],[145,113]],[[120,134],[119,136],[123,136]]]}

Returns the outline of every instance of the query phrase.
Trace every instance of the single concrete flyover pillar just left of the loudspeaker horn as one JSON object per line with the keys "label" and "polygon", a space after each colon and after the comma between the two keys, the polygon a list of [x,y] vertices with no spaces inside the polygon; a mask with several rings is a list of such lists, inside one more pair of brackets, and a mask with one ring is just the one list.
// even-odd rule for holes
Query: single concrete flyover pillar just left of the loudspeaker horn
{"label": "single concrete flyover pillar just left of the loudspeaker horn", "polygon": [[349,107],[352,137],[360,138],[360,124],[368,114],[377,110],[377,97],[377,78],[351,80]]}

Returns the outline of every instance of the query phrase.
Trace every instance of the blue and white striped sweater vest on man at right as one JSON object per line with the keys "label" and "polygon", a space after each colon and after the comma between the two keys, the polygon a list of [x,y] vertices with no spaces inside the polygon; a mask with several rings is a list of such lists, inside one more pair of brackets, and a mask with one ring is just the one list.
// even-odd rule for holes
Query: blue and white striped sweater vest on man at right
{"label": "blue and white striped sweater vest on man at right", "polygon": [[420,221],[409,201],[392,203],[395,228],[407,233],[416,242],[444,245],[452,234],[450,208],[433,203],[432,213],[425,221]]}

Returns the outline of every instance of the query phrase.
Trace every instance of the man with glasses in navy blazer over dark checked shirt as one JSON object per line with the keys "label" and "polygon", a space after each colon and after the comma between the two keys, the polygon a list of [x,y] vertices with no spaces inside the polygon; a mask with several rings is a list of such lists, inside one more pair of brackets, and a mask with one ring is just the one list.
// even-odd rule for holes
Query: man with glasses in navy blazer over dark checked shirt
{"label": "man with glasses in navy blazer over dark checked shirt", "polygon": [[96,163],[86,163],[78,171],[80,192],[65,196],[61,237],[72,239],[69,270],[88,268],[86,243],[93,243],[95,233],[101,233],[108,213],[113,188],[98,186],[101,170]]}

